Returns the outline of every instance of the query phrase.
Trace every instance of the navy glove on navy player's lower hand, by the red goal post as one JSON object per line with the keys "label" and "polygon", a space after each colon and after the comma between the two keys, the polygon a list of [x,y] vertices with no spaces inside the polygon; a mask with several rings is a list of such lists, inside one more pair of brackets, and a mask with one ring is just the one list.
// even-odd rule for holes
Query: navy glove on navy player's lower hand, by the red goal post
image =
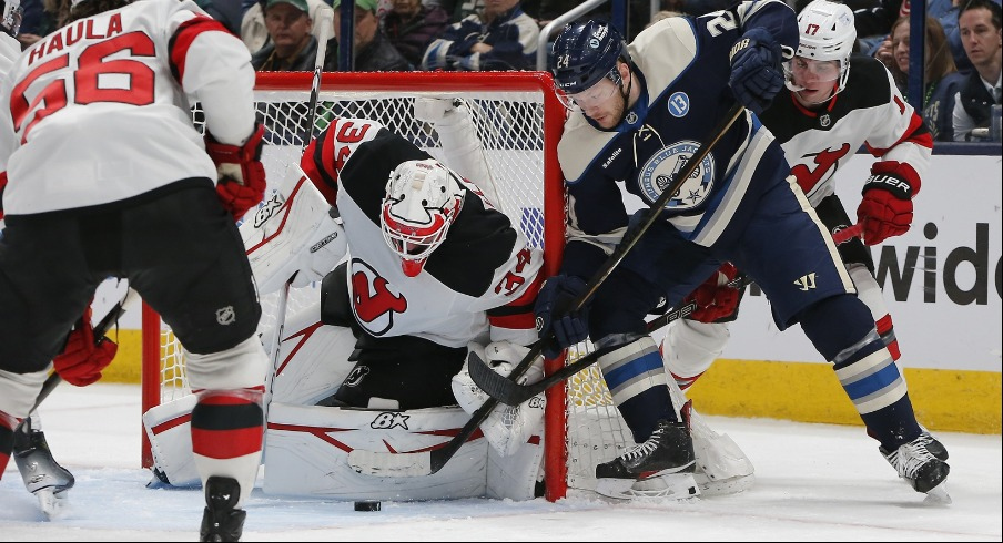
{"label": "navy glove on navy player's lower hand, by the red goal post", "polygon": [[544,341],[541,351],[546,358],[557,358],[563,350],[588,337],[588,305],[569,313],[585,287],[580,277],[556,275],[540,288],[533,313],[536,314],[536,331]]}

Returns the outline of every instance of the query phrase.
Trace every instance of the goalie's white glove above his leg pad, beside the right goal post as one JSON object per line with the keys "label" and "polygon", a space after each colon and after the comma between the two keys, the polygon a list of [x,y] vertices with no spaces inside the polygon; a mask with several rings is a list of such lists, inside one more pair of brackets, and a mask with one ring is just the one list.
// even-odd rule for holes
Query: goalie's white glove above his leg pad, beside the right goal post
{"label": "goalie's white glove above his leg pad, beside the right goal post", "polygon": [[[492,366],[495,371],[504,376],[511,373],[514,366],[529,352],[529,349],[508,341],[495,341],[488,344],[487,347],[469,344],[467,349],[468,352],[476,354],[482,360]],[[519,379],[519,383],[533,383],[543,377],[543,358],[537,358]],[[470,378],[469,367],[466,363],[453,378],[452,387],[456,402],[468,413],[473,414],[488,400],[487,393],[474,383],[473,378]],[[546,406],[547,400],[543,393],[534,396],[519,406],[499,404],[480,424],[480,430],[498,454],[502,457],[515,454],[534,436],[540,434]]]}

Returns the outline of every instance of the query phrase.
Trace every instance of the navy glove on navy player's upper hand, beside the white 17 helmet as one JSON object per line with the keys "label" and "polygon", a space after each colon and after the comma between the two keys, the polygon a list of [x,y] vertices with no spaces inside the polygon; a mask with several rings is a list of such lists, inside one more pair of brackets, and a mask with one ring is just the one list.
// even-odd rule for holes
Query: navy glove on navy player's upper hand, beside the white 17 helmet
{"label": "navy glove on navy player's upper hand, beside the white 17 helmet", "polygon": [[731,48],[730,58],[731,92],[752,113],[762,113],[783,88],[780,44],[767,30],[753,28]]}

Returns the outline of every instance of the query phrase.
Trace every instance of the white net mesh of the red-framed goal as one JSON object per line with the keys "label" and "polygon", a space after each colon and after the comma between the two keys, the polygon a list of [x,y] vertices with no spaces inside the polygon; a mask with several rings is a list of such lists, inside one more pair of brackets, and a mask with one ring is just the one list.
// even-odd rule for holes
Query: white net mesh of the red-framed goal
{"label": "white net mesh of the red-framed goal", "polygon": [[[308,94],[308,89],[257,91],[255,94],[259,121],[266,127],[262,160],[273,191],[290,174],[290,167],[298,164],[302,148],[307,143]],[[335,116],[371,119],[411,140],[436,158],[444,160],[436,131],[414,117],[414,100],[419,95],[459,99],[466,103],[485,151],[497,195],[495,205],[527,235],[531,245],[543,247],[544,156],[548,150],[544,146],[541,92],[464,91],[449,92],[448,96],[408,90],[322,92],[313,135]],[[201,112],[196,109],[196,124],[200,117]],[[444,162],[448,164],[448,161]],[[560,208],[559,213],[563,211]],[[316,284],[292,289],[287,314],[314,303],[320,296],[318,289]],[[263,296],[261,301],[263,316],[259,331],[265,332],[275,325],[277,294]],[[164,402],[190,391],[180,345],[165,325],[162,325],[161,335],[160,401]],[[576,349],[579,354],[587,350],[586,346]],[[622,452],[624,444],[632,443],[632,440],[629,439],[629,431],[622,430],[625,424],[614,408],[598,368],[592,367],[568,382],[565,409],[568,420],[568,486],[571,490],[594,490],[595,465]]]}

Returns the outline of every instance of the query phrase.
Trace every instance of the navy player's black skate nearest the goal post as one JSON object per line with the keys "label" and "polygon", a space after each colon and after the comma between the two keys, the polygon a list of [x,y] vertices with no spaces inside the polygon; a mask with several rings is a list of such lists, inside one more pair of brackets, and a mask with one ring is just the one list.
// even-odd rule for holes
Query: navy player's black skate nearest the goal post
{"label": "navy player's black skate nearest the goal post", "polygon": [[647,441],[596,467],[596,492],[622,500],[689,499],[700,493],[695,470],[687,423],[660,420]]}

